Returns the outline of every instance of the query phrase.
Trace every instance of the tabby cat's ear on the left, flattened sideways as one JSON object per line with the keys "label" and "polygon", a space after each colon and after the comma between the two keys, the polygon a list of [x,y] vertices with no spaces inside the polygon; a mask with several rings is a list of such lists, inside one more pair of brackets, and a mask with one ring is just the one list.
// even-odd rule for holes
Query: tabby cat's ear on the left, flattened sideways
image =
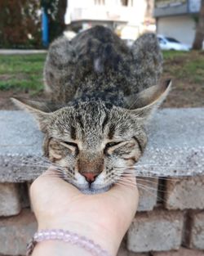
{"label": "tabby cat's ear on the left, flattened sideways", "polygon": [[42,132],[47,132],[47,125],[51,119],[51,111],[44,111],[45,102],[32,101],[23,98],[11,98],[11,101],[14,102],[22,110],[26,110],[31,113],[38,122],[38,126]]}

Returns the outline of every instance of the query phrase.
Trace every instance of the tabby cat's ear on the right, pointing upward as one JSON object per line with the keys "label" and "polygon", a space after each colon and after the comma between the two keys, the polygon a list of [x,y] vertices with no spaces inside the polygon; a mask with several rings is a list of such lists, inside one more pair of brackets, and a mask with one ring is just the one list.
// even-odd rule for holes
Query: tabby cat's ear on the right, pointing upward
{"label": "tabby cat's ear on the right, pointing upward", "polygon": [[126,97],[126,105],[132,114],[141,119],[148,119],[154,110],[165,100],[171,89],[171,80],[161,85],[154,85],[135,96]]}

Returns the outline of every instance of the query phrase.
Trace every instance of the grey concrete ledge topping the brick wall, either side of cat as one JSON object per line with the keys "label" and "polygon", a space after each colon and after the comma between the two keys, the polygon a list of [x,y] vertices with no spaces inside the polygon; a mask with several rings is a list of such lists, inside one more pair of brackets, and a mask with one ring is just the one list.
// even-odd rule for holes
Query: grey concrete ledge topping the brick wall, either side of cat
{"label": "grey concrete ledge topping the brick wall, either side of cat", "polygon": [[[47,168],[42,132],[19,110],[0,111],[0,182],[32,181]],[[159,110],[148,128],[139,176],[204,175],[204,108]]]}

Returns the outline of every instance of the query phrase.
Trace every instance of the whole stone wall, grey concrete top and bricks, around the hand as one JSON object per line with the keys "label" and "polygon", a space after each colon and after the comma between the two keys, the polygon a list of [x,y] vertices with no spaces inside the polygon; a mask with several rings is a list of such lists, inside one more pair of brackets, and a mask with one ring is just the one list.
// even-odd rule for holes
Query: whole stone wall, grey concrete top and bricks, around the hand
{"label": "whole stone wall, grey concrete top and bricks, around the hand", "polygon": [[[140,205],[118,256],[204,255],[203,110],[172,111],[176,115],[162,110],[155,130],[149,131],[153,137],[139,164]],[[37,166],[42,136],[20,111],[0,112],[0,125],[0,256],[25,255],[25,245],[37,229],[29,184],[42,173]],[[151,170],[149,163],[156,163]]]}

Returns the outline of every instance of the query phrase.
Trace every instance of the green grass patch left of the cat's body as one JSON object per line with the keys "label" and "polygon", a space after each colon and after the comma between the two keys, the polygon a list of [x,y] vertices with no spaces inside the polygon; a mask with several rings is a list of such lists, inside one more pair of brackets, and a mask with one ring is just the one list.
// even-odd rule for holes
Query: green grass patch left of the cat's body
{"label": "green grass patch left of the cat's body", "polygon": [[46,54],[0,56],[0,90],[42,90]]}

